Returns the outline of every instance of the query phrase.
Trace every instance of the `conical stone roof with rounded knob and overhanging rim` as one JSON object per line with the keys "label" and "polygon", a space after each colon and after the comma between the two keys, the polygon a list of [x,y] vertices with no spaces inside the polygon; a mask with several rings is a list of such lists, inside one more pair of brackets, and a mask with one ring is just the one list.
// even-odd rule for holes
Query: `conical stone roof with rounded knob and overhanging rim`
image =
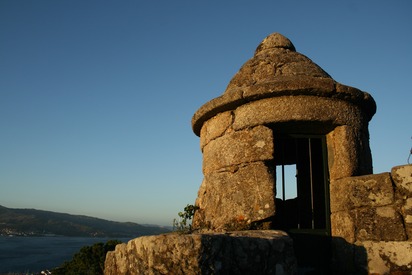
{"label": "conical stone roof with rounded knob and overhanging rim", "polygon": [[373,98],[366,92],[342,85],[279,33],[266,37],[229,82],[220,97],[196,111],[192,127],[200,135],[203,123],[216,114],[251,101],[290,95],[336,98],[356,104],[370,120],[376,112]]}

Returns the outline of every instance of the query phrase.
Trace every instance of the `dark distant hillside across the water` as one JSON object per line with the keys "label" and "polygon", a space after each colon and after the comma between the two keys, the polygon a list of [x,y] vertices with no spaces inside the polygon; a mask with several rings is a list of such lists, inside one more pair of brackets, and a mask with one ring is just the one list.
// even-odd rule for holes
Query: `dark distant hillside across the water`
{"label": "dark distant hillside across the water", "polygon": [[113,222],[88,216],[0,205],[0,235],[62,235],[84,237],[138,237],[168,232],[159,226]]}

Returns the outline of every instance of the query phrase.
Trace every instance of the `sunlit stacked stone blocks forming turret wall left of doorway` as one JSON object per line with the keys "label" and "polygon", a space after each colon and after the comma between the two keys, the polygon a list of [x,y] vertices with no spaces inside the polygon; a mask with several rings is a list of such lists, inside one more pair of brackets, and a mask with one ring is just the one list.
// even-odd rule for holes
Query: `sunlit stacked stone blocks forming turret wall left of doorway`
{"label": "sunlit stacked stone blocks forming turret wall left of doorway", "polygon": [[230,115],[222,114],[202,130],[205,176],[194,228],[245,229],[274,215],[274,175],[266,164],[273,159],[272,131],[264,126],[233,131],[229,121]]}

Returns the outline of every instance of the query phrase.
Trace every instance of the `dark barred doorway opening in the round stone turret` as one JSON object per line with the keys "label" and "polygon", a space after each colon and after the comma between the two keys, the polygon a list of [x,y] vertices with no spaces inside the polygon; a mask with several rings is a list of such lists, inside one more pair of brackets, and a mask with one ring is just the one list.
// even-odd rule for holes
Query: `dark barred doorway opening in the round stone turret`
{"label": "dark barred doorway opening in the round stone turret", "polygon": [[328,274],[329,178],[326,138],[274,135],[276,215],[273,227],[294,240],[302,274]]}

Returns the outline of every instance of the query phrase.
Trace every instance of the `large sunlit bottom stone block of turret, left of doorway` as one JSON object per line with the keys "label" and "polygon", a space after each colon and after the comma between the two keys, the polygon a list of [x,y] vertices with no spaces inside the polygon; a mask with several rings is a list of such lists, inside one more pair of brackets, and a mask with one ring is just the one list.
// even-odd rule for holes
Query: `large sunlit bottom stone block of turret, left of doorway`
{"label": "large sunlit bottom stone block of turret, left of doorway", "polygon": [[199,209],[193,220],[194,228],[245,229],[274,215],[273,171],[264,162],[230,169],[205,176],[196,200]]}

